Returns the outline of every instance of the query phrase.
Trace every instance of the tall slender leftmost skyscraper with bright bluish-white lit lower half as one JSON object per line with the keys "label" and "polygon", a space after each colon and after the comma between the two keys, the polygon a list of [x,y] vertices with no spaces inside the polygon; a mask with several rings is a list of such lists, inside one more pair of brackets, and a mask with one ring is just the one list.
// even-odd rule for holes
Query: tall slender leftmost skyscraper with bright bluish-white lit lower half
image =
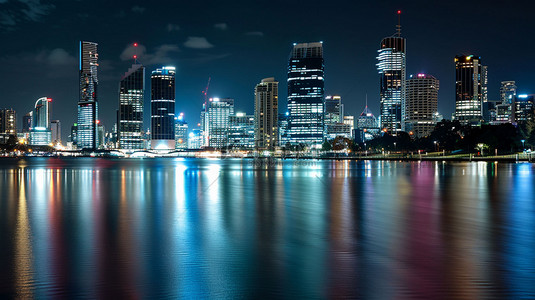
{"label": "tall slender leftmost skyscraper with bright bluish-white lit lower half", "polygon": [[[78,101],[77,146],[96,149],[98,125],[97,43],[80,42],[80,99]],[[34,116],[35,118],[35,116]]]}

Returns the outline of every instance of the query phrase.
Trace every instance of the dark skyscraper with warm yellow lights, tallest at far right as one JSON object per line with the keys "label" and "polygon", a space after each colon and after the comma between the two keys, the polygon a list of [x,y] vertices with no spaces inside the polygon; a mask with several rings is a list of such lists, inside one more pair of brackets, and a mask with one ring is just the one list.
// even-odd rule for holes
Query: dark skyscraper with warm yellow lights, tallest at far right
{"label": "dark skyscraper with warm yellow lights, tallest at far right", "polygon": [[483,120],[486,74],[480,57],[455,56],[455,119],[462,124],[478,125]]}

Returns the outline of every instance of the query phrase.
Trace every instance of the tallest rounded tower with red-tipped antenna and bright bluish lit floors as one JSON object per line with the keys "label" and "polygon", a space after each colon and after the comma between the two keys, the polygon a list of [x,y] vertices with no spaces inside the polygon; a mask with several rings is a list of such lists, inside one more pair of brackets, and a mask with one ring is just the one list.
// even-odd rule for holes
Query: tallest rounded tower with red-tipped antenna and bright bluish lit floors
{"label": "tallest rounded tower with red-tipped antenna and bright bluish lit floors", "polygon": [[396,34],[385,37],[377,51],[380,86],[380,126],[390,134],[404,130],[406,40],[401,37],[401,11],[398,11]]}

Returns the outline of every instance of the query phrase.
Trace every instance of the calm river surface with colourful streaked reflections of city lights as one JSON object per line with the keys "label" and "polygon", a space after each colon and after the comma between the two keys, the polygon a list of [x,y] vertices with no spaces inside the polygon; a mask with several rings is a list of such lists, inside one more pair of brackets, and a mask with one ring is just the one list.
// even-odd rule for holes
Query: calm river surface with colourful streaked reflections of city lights
{"label": "calm river surface with colourful streaked reflections of city lights", "polygon": [[0,160],[0,297],[534,298],[532,164]]}

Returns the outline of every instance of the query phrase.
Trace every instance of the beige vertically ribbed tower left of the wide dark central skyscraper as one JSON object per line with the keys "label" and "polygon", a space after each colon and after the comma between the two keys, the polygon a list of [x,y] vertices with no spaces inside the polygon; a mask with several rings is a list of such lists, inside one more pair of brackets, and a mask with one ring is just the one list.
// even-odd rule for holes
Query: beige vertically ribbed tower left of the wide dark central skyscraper
{"label": "beige vertically ribbed tower left of the wide dark central skyscraper", "polygon": [[279,144],[279,82],[265,78],[255,87],[255,147],[273,150]]}

